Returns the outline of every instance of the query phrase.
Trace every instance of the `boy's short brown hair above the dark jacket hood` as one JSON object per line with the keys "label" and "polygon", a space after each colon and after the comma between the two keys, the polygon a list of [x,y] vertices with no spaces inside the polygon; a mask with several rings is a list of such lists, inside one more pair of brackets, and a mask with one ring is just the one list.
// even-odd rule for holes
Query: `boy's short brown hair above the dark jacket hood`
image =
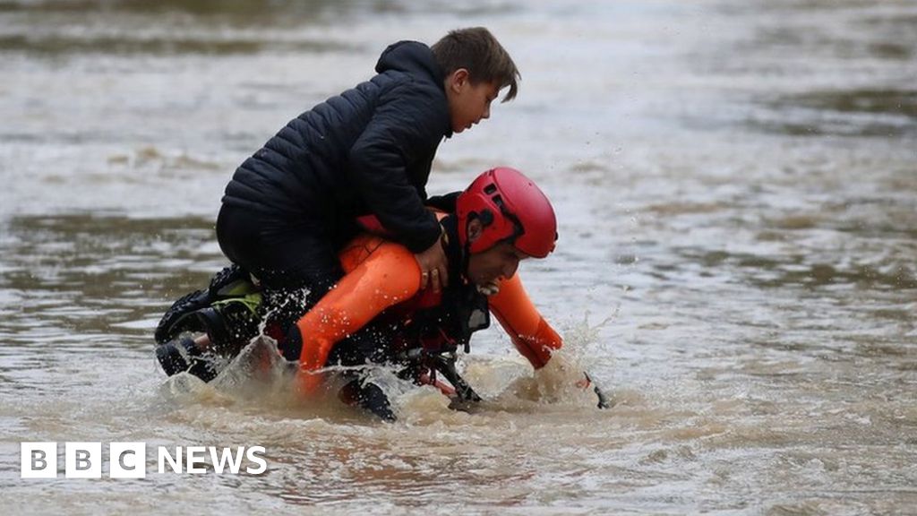
{"label": "boy's short brown hair above the dark jacket hood", "polygon": [[509,86],[510,91],[503,95],[503,102],[513,100],[519,90],[519,79],[522,76],[513,58],[486,28],[450,30],[430,49],[446,75],[465,68],[474,84],[492,82],[501,89]]}

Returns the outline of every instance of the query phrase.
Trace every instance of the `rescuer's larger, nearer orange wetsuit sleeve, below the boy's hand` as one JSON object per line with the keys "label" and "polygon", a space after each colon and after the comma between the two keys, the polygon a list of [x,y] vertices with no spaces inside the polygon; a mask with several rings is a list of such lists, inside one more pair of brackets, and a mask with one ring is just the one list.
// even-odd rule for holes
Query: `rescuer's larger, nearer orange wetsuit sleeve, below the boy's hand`
{"label": "rescuer's larger, nearer orange wetsuit sleeve, below the boy's hand", "polygon": [[[335,343],[420,290],[420,266],[414,253],[393,242],[375,242],[378,245],[363,252],[365,260],[355,264],[296,322],[303,338],[300,386],[306,393],[315,392],[320,385],[321,377],[310,373],[325,365]],[[341,258],[345,269],[350,269],[348,265],[353,264],[347,264],[348,257]]]}

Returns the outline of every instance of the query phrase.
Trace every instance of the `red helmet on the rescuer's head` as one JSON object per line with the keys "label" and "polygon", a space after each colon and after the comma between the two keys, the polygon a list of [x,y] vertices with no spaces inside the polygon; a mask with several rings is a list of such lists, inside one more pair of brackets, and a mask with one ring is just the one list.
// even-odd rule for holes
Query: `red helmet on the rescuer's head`
{"label": "red helmet on the rescuer's head", "polygon": [[544,258],[558,240],[558,219],[547,196],[524,174],[497,167],[478,176],[456,200],[458,241],[468,245],[468,222],[481,219],[481,237],[470,252],[482,252],[511,241],[521,252]]}

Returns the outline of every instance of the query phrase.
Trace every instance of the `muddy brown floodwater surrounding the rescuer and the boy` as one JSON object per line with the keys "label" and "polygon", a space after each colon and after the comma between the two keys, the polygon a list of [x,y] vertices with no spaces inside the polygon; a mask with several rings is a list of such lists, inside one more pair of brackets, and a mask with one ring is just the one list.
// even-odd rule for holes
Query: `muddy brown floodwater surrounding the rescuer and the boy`
{"label": "muddy brown floodwater surrounding the rescuer and the boy", "polygon": [[[429,190],[496,164],[543,186],[558,251],[521,274],[563,360],[533,376],[485,332],[484,406],[390,383],[394,424],[167,382],[152,329],[224,264],[238,163],[392,41],[470,25],[520,96]],[[0,2],[0,506],[917,514],[915,28],[913,0]],[[148,476],[21,479],[36,441],[144,442]],[[160,445],[268,470],[160,474]]]}

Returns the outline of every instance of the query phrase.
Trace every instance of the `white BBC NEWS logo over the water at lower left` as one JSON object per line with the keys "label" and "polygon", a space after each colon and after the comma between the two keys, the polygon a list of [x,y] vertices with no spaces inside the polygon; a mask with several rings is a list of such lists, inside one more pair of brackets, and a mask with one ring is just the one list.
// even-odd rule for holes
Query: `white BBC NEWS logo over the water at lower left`
{"label": "white BBC NEWS logo over the water at lower left", "polygon": [[[21,443],[22,478],[57,478],[58,443]],[[205,474],[209,466],[217,475],[260,475],[267,471],[263,446],[166,446],[156,448],[157,470],[160,474]],[[64,477],[101,478],[104,455],[102,443],[64,443]],[[109,443],[108,477],[147,477],[146,443]],[[242,467],[245,465],[246,467]]]}

